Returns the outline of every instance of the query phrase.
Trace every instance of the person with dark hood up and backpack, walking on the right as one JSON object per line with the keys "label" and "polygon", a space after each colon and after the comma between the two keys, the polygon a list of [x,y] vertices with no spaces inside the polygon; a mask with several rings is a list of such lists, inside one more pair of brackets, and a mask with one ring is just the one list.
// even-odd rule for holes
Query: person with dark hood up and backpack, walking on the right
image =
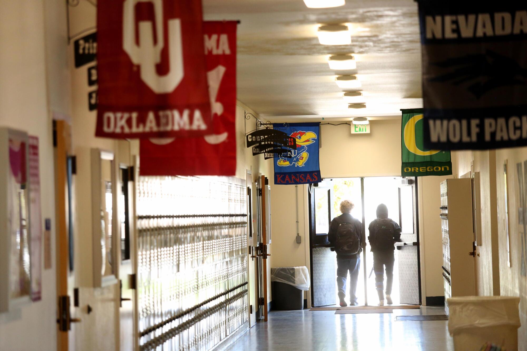
{"label": "person with dark hood up and backpack, walking on the right", "polygon": [[379,306],[384,306],[384,270],[386,270],[386,303],[392,305],[392,283],[394,278],[394,243],[401,241],[401,227],[388,218],[384,203],[377,206],[377,219],[369,223],[368,242],[373,252],[375,288],[379,295]]}

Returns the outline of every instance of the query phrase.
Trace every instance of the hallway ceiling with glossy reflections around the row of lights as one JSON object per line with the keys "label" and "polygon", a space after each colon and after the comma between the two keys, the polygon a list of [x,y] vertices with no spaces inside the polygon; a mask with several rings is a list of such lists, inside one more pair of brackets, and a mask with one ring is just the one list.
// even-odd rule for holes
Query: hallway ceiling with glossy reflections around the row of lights
{"label": "hallway ceiling with glossy reflections around the row of lights", "polygon": [[[238,100],[271,121],[400,118],[422,107],[421,50],[413,0],[347,0],[307,8],[302,0],[203,0],[207,20],[238,19]],[[347,23],[352,44],[320,45],[318,24]],[[365,109],[348,109],[330,54],[353,53]]]}

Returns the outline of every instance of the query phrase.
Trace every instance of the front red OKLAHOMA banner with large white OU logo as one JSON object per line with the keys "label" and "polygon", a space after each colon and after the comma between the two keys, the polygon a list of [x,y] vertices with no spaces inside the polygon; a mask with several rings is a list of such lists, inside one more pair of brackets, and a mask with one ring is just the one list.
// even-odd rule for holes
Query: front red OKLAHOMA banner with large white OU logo
{"label": "front red OKLAHOMA banner with large white OU logo", "polygon": [[210,134],[201,0],[97,7],[97,137]]}

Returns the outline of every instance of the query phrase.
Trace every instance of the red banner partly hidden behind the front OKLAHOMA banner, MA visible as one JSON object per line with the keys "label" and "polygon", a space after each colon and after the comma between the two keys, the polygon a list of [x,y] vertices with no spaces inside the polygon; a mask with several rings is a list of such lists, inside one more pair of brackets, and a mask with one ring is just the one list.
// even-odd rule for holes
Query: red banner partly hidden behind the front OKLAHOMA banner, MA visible
{"label": "red banner partly hidden behind the front OKLAHOMA banner, MA visible", "polygon": [[203,22],[213,133],[203,138],[142,139],[142,176],[236,173],[236,22]]}

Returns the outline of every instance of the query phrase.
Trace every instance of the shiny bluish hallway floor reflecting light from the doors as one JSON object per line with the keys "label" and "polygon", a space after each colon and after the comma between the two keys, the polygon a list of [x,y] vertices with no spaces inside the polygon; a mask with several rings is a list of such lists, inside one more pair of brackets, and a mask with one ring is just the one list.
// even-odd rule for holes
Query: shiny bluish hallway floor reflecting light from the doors
{"label": "shiny bluish hallway floor reflecting light from the doors", "polygon": [[446,320],[395,321],[396,316],[444,314],[442,308],[387,314],[271,311],[228,350],[453,350]]}

